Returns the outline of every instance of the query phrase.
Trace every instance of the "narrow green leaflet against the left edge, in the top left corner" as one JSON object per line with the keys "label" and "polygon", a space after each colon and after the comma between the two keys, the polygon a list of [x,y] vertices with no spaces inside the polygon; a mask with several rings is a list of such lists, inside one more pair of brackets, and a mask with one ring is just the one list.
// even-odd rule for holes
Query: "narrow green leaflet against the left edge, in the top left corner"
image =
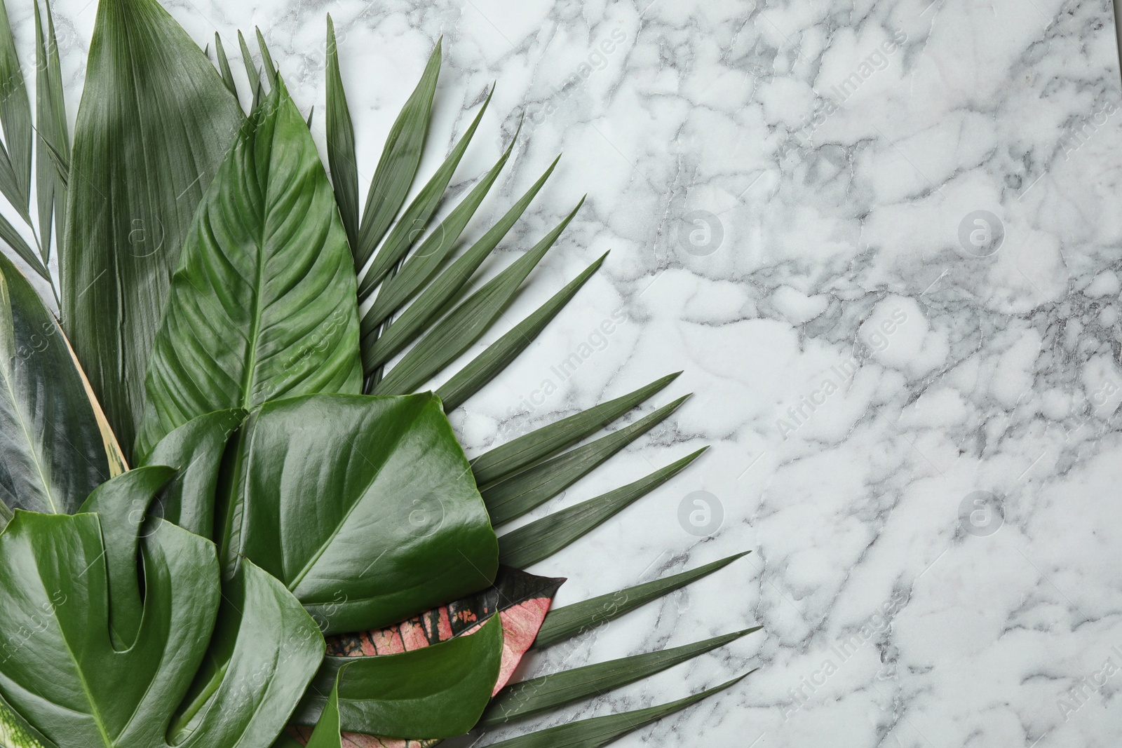
{"label": "narrow green leaflet against the left edge, in the top left corner", "polygon": [[0,1],[0,192],[26,218],[31,200],[31,103],[4,6]]}

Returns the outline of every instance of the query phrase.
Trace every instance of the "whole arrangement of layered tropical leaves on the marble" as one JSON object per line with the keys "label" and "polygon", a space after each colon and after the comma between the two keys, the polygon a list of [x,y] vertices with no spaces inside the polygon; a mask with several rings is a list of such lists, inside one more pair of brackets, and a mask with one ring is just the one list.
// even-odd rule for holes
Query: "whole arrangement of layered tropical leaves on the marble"
{"label": "whole arrangement of layered tropical leaves on the marble", "polygon": [[[0,193],[28,227],[0,219],[0,237],[58,314],[0,256],[0,746],[431,746],[755,630],[511,683],[531,647],[738,556],[552,611],[564,580],[523,571],[700,452],[496,535],[684,398],[596,436],[671,375],[466,458],[445,414],[604,258],[445,373],[580,205],[484,280],[553,165],[466,239],[514,144],[451,204],[488,96],[420,184],[440,43],[360,210],[330,17],[329,179],[260,33],[260,67],[239,33],[246,113],[221,38],[212,63],[156,0],[100,0],[72,141],[33,4],[34,117],[0,2]],[[735,682],[496,745],[603,746]]]}

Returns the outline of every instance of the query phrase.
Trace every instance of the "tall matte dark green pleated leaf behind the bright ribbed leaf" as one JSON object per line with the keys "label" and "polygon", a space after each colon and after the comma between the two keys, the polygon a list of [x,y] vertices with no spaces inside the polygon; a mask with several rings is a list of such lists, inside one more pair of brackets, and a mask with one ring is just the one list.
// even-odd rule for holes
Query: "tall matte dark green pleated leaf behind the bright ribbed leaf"
{"label": "tall matte dark green pleated leaf behind the bright ribbed leaf", "polygon": [[180,248],[243,120],[156,0],[98,3],[58,260],[65,330],[126,458]]}

